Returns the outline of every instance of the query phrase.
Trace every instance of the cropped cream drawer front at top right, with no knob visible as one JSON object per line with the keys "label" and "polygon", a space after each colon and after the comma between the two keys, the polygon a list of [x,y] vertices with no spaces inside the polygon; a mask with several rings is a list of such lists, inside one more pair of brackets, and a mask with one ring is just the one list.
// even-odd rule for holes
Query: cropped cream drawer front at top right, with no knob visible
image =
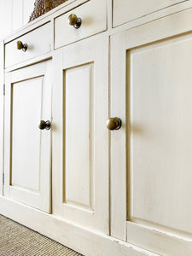
{"label": "cropped cream drawer front at top right, with no knob visible", "polygon": [[113,27],[186,0],[113,0]]}

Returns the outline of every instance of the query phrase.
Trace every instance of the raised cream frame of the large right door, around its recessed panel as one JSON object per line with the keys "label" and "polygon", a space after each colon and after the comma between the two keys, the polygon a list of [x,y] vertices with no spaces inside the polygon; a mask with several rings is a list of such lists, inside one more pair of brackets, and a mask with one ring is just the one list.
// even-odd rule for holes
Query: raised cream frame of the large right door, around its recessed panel
{"label": "raised cream frame of the large right door, around its recessed panel", "polygon": [[[162,228],[127,221],[129,218],[127,199],[130,191],[127,185],[129,160],[126,160],[129,149],[126,137],[129,133],[127,128],[129,127],[129,109],[126,105],[129,94],[126,91],[126,83],[129,74],[126,74],[126,52],[138,46],[191,33],[191,15],[192,9],[187,9],[111,36],[110,115],[122,119],[121,129],[111,133],[111,235],[160,254],[167,253],[167,247],[164,246],[167,244],[168,253],[177,252],[175,255],[180,255],[179,253],[184,252],[185,255],[190,255],[192,239],[186,233],[181,232],[178,235],[172,232],[170,235],[170,231]],[[183,22],[177,22],[177,20],[183,20]],[[119,63],[123,65],[119,67]],[[160,241],[160,247],[155,247],[157,239]]]}

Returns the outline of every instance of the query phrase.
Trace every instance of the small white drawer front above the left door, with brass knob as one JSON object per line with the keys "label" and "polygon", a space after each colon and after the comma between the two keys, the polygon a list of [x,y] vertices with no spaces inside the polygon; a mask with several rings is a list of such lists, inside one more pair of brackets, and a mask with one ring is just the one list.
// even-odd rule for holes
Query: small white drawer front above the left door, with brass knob
{"label": "small white drawer front above the left door, with brass knob", "polygon": [[[26,51],[17,49],[17,42],[27,44]],[[27,61],[38,55],[50,51],[50,23],[39,26],[32,32],[28,32],[20,38],[16,38],[5,44],[5,67],[10,67],[22,61]]]}

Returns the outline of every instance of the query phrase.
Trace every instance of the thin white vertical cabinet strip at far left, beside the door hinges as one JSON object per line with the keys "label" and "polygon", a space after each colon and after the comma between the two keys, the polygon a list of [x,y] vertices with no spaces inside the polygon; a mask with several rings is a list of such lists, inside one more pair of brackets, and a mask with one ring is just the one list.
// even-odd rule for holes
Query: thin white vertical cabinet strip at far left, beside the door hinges
{"label": "thin white vertical cabinet strip at far left, beside the door hinges", "polygon": [[[4,44],[0,42],[0,60],[4,59]],[[0,61],[0,195],[3,195],[3,117],[4,117],[4,69],[3,61]]]}

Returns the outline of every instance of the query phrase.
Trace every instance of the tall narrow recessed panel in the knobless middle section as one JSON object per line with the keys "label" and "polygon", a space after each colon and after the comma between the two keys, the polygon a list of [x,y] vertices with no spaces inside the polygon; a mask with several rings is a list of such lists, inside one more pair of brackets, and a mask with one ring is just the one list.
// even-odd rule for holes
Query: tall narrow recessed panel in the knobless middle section
{"label": "tall narrow recessed panel in the knobless middle section", "polygon": [[[67,204],[93,207],[93,64],[64,71]],[[74,132],[75,131],[75,132]],[[74,189],[75,188],[75,189]]]}

